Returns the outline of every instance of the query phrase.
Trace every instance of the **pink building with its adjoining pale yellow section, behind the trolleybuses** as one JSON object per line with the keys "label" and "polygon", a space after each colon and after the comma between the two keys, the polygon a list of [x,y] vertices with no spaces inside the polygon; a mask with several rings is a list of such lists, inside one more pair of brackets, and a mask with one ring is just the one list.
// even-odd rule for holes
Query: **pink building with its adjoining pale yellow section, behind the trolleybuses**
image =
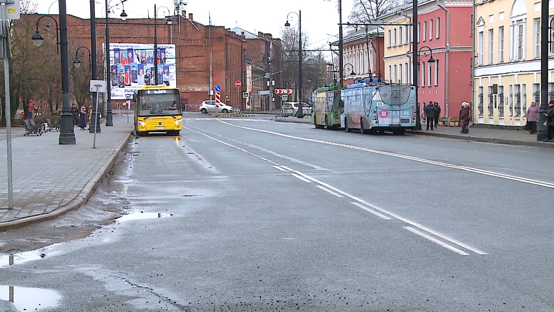
{"label": "pink building with its adjoining pale yellow section, behind the trolleybuses", "polygon": [[[418,102],[438,102],[442,116],[458,117],[461,102],[471,102],[472,5],[467,0],[420,1],[418,5]],[[383,20],[409,24],[411,15],[410,3]],[[385,27],[386,79],[413,82],[411,34],[411,26]],[[430,51],[434,63],[428,62]],[[397,73],[396,68],[402,71],[402,66],[404,73]]]}

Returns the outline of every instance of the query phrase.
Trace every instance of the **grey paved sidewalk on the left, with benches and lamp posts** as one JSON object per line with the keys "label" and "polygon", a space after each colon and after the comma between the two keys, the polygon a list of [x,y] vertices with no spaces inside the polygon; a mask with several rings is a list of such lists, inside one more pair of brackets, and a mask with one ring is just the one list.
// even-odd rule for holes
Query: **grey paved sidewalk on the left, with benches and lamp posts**
{"label": "grey paved sidewalk on the left, with benches and lamp posts", "polygon": [[13,201],[8,210],[6,138],[0,140],[0,230],[54,219],[85,203],[131,139],[133,124],[114,117],[114,127],[94,134],[75,127],[76,145],[59,145],[59,132],[12,138]]}

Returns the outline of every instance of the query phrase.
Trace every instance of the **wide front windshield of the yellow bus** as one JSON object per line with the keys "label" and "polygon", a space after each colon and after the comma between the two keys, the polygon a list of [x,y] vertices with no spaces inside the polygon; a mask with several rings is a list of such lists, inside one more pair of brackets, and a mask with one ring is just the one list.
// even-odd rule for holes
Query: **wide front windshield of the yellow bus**
{"label": "wide front windshield of the yellow bus", "polygon": [[139,90],[137,95],[137,112],[141,117],[181,114],[179,90]]}

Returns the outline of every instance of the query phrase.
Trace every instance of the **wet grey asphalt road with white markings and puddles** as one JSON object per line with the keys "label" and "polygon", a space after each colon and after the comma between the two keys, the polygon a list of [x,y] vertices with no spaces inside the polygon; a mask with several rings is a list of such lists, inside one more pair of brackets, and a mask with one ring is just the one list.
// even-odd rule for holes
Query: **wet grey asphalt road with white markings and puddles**
{"label": "wet grey asphalt road with white markings and puddles", "polygon": [[131,143],[142,219],[0,258],[0,311],[554,310],[551,150],[253,119]]}

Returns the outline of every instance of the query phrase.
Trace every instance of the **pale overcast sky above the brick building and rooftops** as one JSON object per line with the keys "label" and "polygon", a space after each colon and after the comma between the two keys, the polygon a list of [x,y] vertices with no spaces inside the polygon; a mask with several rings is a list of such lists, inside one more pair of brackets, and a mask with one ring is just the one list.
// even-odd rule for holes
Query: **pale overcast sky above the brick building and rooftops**
{"label": "pale overcast sky above the brick building and rooftops", "polygon": [[[110,1],[110,0],[109,0]],[[111,0],[115,4],[120,0]],[[271,33],[274,37],[279,37],[280,29],[284,26],[286,15],[295,11],[302,10],[302,31],[306,32],[310,38],[312,47],[319,47],[328,41],[334,41],[335,37],[327,34],[338,34],[338,12],[336,0],[280,0],[280,1],[260,1],[260,0],[188,0],[186,11],[194,14],[194,20],[208,24],[208,13],[212,17],[212,24],[216,26],[225,26],[234,28],[236,26],[246,29],[252,33],[258,31]],[[342,1],[342,20],[348,21],[348,14],[352,10],[352,4],[355,0]],[[48,13],[48,9],[54,0],[37,0],[38,12]],[[81,18],[90,17],[89,1],[66,0],[67,12]],[[129,18],[153,17],[154,3],[158,7],[166,6],[173,13],[173,0],[127,0],[125,2],[125,12]],[[263,4],[262,4],[263,3]],[[86,5],[85,5],[86,4]],[[265,7],[265,8],[262,8]],[[105,0],[96,0],[96,18],[105,16]],[[52,4],[50,13],[58,13],[58,3]],[[112,17],[119,16],[121,9],[116,8]],[[158,9],[160,16],[167,15],[166,9]],[[290,14],[292,26],[297,27],[296,14]],[[293,22],[294,21],[294,22]]]}

